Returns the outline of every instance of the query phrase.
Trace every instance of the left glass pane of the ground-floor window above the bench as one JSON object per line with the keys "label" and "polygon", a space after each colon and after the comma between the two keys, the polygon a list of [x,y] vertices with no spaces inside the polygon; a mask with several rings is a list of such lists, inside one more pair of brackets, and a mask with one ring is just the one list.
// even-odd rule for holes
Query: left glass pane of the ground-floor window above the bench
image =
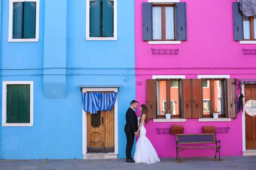
{"label": "left glass pane of the ground-floor window above the bench", "polygon": [[[203,87],[209,87],[210,81],[203,80]],[[210,88],[203,88],[203,114],[208,114],[210,112]]]}

